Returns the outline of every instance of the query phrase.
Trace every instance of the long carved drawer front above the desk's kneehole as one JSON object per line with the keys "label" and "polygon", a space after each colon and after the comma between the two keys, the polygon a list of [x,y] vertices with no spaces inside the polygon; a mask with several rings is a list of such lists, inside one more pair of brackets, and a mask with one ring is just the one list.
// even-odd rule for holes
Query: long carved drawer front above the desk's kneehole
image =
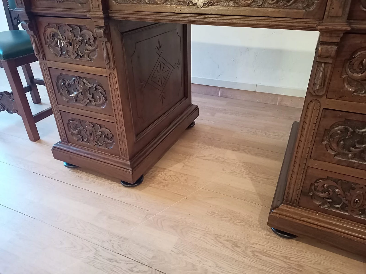
{"label": "long carved drawer front above the desk's kneehole", "polygon": [[326,0],[109,0],[110,10],[309,19],[322,19],[325,6]]}

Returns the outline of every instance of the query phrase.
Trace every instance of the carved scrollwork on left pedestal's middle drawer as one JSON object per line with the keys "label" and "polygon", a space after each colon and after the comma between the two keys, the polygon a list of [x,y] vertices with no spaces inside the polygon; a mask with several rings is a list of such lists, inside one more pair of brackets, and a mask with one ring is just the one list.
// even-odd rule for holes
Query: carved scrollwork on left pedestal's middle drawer
{"label": "carved scrollwork on left pedestal's middle drawer", "polygon": [[107,104],[107,94],[96,80],[60,74],[56,82],[57,91],[69,103],[75,102],[82,106],[91,105],[101,108]]}

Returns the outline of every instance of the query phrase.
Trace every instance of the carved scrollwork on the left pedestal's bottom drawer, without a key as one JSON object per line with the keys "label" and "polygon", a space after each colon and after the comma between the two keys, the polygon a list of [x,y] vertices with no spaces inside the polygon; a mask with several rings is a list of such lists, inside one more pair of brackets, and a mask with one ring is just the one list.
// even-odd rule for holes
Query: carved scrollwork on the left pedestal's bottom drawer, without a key
{"label": "carved scrollwork on the left pedestal's bottom drawer, without a key", "polygon": [[67,121],[71,136],[78,142],[88,145],[111,149],[115,145],[112,132],[103,125],[71,118]]}

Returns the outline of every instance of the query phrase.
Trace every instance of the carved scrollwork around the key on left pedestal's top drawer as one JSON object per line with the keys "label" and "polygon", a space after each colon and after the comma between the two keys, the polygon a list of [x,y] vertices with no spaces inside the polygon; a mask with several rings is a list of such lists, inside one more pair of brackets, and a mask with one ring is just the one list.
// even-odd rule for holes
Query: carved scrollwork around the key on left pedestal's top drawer
{"label": "carved scrollwork around the key on left pedestal's top drawer", "polygon": [[44,37],[48,49],[57,57],[86,59],[97,57],[96,38],[86,26],[49,24]]}

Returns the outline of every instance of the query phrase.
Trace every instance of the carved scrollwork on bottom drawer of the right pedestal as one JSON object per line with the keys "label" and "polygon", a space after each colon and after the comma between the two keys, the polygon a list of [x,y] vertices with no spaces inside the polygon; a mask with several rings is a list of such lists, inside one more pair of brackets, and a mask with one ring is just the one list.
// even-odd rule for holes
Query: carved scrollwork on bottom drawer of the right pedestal
{"label": "carved scrollwork on bottom drawer of the right pedestal", "polygon": [[309,195],[322,208],[366,217],[366,186],[327,177],[311,183]]}

